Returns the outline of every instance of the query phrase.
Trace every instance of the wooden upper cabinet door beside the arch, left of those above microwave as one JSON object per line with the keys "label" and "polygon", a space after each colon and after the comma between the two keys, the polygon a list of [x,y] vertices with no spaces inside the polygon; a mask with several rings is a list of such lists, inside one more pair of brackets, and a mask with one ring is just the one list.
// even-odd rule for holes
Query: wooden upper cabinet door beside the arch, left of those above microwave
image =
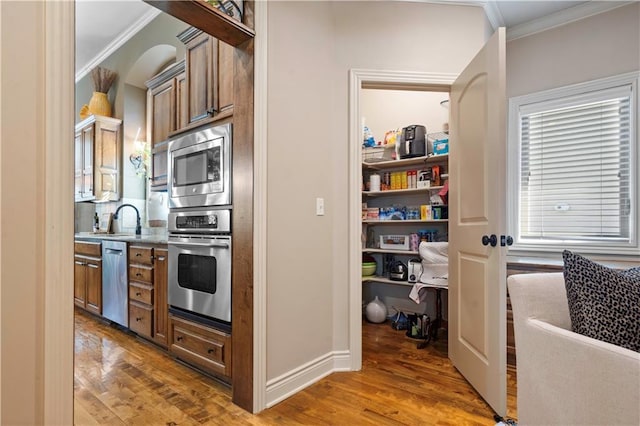
{"label": "wooden upper cabinet door beside the arch, left of those above microwave", "polygon": [[176,129],[175,105],[176,93],[173,79],[149,91],[151,97],[151,149],[159,142],[169,138],[169,133]]}

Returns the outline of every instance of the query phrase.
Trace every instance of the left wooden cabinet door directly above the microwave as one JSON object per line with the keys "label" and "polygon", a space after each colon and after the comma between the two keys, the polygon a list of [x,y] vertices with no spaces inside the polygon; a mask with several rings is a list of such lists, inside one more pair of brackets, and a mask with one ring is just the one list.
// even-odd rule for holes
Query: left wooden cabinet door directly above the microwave
{"label": "left wooden cabinet door directly above the microwave", "polygon": [[186,72],[189,123],[207,118],[217,109],[218,44],[202,33],[186,45]]}

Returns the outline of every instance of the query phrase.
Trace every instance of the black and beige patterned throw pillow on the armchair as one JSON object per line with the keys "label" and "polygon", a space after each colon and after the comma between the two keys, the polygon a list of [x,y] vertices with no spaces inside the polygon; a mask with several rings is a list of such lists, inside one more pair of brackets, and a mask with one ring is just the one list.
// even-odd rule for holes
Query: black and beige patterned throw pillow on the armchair
{"label": "black and beige patterned throw pillow on the armchair", "polygon": [[640,268],[616,271],[565,250],[574,332],[640,352]]}

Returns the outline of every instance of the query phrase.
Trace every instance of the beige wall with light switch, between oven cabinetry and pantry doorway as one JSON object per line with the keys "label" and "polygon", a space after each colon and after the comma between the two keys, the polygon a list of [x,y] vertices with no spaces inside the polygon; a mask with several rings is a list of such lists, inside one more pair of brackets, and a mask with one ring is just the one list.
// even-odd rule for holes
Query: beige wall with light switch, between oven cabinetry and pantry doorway
{"label": "beige wall with light switch, between oven cabinetry and pantry doorway", "polygon": [[348,348],[349,70],[459,73],[486,25],[480,7],[268,3],[268,383]]}

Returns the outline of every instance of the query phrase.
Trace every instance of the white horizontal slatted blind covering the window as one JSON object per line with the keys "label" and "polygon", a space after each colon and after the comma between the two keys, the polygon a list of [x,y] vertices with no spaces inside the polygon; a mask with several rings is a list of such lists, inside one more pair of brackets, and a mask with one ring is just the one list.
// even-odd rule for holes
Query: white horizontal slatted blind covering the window
{"label": "white horizontal slatted blind covering the window", "polygon": [[520,106],[518,235],[629,244],[632,85]]}

